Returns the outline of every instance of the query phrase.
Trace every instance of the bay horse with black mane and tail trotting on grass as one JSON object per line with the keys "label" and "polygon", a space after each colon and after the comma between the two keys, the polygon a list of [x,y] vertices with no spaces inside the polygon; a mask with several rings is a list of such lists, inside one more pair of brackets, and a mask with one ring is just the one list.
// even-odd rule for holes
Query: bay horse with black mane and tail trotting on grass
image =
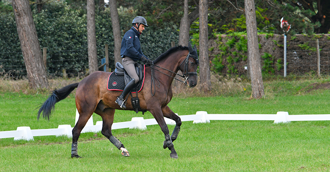
{"label": "bay horse with black mane and tail trotting on grass", "polygon": [[[171,151],[170,158],[173,159],[178,158],[172,142],[177,138],[179,133],[181,119],[167,106],[172,99],[171,83],[178,70],[180,70],[183,74],[180,76],[184,78],[184,82],[181,82],[185,83],[187,81],[189,87],[196,86],[197,66],[197,50],[195,46],[192,48],[190,43],[188,47],[172,47],[157,57],[153,61],[153,64],[145,65],[144,84],[138,94],[140,108],[141,110],[149,111],[157,121],[165,136],[163,148],[168,148]],[[109,75],[109,72],[96,71],[78,83],[67,85],[58,90],[55,89],[40,106],[37,119],[39,119],[40,114],[42,114],[44,119],[49,120],[55,103],[65,99],[77,88],[75,92],[75,105],[79,112],[79,119],[72,129],[71,158],[81,158],[77,154],[77,141],[81,130],[93,113],[98,114],[102,118],[102,135],[121,151],[122,156],[129,157],[129,153],[123,144],[116,137],[112,136],[111,133],[114,111],[115,109],[122,109],[114,102],[121,92],[109,91],[107,89]],[[155,80],[157,80],[157,83],[159,81],[159,85],[156,85],[157,87],[154,87]],[[153,88],[151,84],[153,84]],[[127,96],[128,99],[126,101],[125,110],[134,110],[131,105],[129,94]],[[176,123],[171,136],[169,136],[169,131],[163,117],[172,119]]]}

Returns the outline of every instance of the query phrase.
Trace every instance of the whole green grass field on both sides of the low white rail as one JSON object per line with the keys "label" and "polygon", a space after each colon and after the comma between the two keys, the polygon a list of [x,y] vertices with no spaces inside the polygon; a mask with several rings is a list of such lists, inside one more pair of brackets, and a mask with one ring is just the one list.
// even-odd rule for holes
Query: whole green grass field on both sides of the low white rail
{"label": "whole green grass field on both sides of the low white rail", "polygon": [[[258,100],[246,96],[173,98],[169,107],[179,115],[191,115],[196,111],[209,114],[276,114],[277,111],[287,111],[290,115],[330,114],[330,91],[299,94],[299,89],[295,88],[297,83],[277,81],[275,84],[283,87],[286,84],[286,90],[290,89],[294,94],[277,96],[285,92],[282,87],[271,96]],[[74,95],[56,104],[50,121],[37,121],[37,110],[33,110],[46,98],[46,94],[0,92],[0,131],[16,130],[19,126],[45,129],[69,124],[73,127]],[[152,118],[150,113],[142,116],[141,113],[116,111],[114,122],[130,121],[132,117]],[[93,119],[94,124],[101,121],[97,115],[93,115]],[[173,127],[169,126],[169,130]],[[34,137],[34,141],[29,142],[0,139],[0,172],[328,172],[329,133],[329,121],[286,124],[273,124],[273,121],[183,122],[174,142],[177,160],[170,159],[170,152],[162,149],[164,137],[157,125],[147,126],[143,131],[113,130],[113,135],[124,144],[130,157],[122,157],[100,133],[81,134],[78,154],[82,159],[70,158],[71,139],[67,137]]]}

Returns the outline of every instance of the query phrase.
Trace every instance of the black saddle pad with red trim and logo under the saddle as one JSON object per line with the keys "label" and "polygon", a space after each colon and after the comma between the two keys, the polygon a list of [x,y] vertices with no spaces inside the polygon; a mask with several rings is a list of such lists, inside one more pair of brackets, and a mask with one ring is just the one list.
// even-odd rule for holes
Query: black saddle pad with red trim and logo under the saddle
{"label": "black saddle pad with red trim and logo under the saddle", "polygon": [[[144,72],[143,79],[140,79],[136,86],[132,89],[132,93],[140,92],[144,83]],[[125,88],[124,76],[118,76],[115,72],[111,72],[107,82],[107,89],[111,91],[123,91]]]}

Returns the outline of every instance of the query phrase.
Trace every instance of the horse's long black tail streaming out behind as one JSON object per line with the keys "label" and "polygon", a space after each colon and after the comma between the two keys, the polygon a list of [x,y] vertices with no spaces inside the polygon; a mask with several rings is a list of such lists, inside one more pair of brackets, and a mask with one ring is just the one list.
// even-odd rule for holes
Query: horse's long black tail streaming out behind
{"label": "horse's long black tail streaming out behind", "polygon": [[49,120],[51,112],[55,107],[55,103],[65,99],[75,88],[78,87],[78,84],[79,83],[74,83],[67,85],[59,90],[54,90],[49,95],[48,99],[41,106],[39,106],[40,109],[38,111],[37,119],[39,120],[40,114],[42,113],[42,117]]}

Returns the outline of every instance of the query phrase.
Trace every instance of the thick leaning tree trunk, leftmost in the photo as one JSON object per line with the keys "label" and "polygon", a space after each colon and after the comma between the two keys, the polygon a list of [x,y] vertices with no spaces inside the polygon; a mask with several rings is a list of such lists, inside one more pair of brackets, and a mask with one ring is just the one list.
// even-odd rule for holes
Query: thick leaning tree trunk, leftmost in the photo
{"label": "thick leaning tree trunk, leftmost in the photo", "polygon": [[47,75],[30,4],[28,0],[12,0],[12,7],[29,86],[34,89],[47,88]]}

